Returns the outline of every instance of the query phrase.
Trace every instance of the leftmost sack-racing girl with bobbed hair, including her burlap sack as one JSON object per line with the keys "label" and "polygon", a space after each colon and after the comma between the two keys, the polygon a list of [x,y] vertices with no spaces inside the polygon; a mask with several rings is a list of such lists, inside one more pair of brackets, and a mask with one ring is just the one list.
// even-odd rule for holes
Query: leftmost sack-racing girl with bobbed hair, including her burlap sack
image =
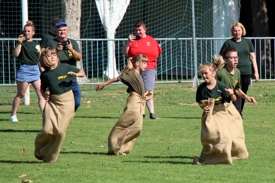
{"label": "leftmost sack-racing girl with bobbed hair, including her burlap sack", "polygon": [[45,69],[40,76],[40,90],[46,99],[46,105],[43,111],[43,128],[35,139],[34,156],[44,162],[54,163],[65,139],[67,126],[74,117],[72,80],[74,77],[83,77],[85,73],[69,64],[60,64],[53,48],[46,48],[42,52],[38,66]]}

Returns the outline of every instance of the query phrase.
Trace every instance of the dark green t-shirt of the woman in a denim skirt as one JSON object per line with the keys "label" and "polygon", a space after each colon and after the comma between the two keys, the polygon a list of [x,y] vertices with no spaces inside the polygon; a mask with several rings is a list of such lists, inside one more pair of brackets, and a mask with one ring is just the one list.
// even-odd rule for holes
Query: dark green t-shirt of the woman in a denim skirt
{"label": "dark green t-shirt of the woman in a denim skirt", "polygon": [[39,43],[35,41],[23,41],[21,51],[19,54],[20,64],[26,64],[30,66],[37,65],[38,58],[40,56]]}

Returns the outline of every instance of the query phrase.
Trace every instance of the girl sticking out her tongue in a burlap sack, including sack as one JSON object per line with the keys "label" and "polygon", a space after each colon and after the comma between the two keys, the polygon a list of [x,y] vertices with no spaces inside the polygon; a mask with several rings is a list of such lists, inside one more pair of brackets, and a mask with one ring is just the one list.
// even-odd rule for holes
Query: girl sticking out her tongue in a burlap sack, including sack
{"label": "girl sticking out her tongue in a burlap sack, including sack", "polygon": [[236,101],[236,96],[232,89],[228,89],[224,83],[216,80],[215,66],[219,64],[206,63],[199,68],[205,81],[199,85],[196,93],[196,101],[204,110],[201,130],[203,149],[200,157],[194,156],[193,160],[194,164],[199,165],[232,164],[230,121],[224,103],[230,103],[230,100]]}

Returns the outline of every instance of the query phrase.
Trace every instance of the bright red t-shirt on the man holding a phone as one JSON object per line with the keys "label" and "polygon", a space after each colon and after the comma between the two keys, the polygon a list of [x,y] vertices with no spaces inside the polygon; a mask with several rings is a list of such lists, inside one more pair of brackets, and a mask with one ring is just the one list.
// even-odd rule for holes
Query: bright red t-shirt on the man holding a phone
{"label": "bright red t-shirt on the man holding a phone", "polygon": [[149,60],[146,69],[156,69],[156,59],[161,53],[160,45],[148,35],[140,40],[131,41],[128,51],[129,57],[134,57],[136,54],[145,55]]}

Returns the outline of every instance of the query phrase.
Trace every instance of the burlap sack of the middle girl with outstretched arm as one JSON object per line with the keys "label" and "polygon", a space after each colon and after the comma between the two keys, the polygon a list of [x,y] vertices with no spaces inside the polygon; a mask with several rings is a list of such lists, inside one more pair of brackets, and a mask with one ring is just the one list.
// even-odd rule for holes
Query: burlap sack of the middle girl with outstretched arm
{"label": "burlap sack of the middle girl with outstretched arm", "polygon": [[[143,100],[148,101],[152,97],[153,91],[149,90],[143,95]],[[141,96],[136,92],[130,92],[124,112],[109,134],[108,153],[113,155],[129,154],[141,134],[142,123]]]}

